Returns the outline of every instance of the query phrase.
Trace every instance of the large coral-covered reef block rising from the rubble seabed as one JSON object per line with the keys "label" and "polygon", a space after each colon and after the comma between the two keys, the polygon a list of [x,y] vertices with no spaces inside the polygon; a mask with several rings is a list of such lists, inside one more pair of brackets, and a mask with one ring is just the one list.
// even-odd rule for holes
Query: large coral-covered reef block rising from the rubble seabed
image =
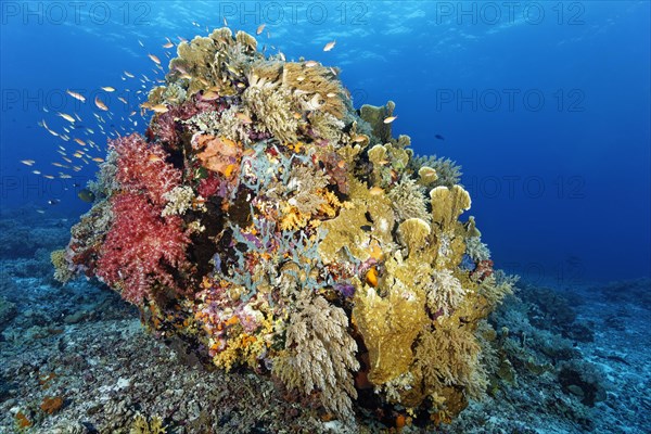
{"label": "large coral-covered reef block rising from the rubble seabed", "polygon": [[393,102],[357,115],[335,68],[221,28],[179,44],[158,104],[111,142],[58,279],[100,278],[200,359],[350,426],[362,405],[439,423],[482,396],[475,332],[513,280],[460,220],[458,167],[392,137]]}

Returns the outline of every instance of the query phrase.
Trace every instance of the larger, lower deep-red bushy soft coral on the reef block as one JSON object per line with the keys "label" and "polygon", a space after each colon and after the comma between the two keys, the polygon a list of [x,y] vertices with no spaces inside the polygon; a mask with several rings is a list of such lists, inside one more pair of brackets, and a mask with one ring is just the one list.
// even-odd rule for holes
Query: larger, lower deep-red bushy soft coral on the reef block
{"label": "larger, lower deep-red bushy soft coral on the reef block", "polygon": [[174,269],[187,265],[188,235],[178,216],[161,217],[144,195],[123,193],[113,199],[114,221],[98,261],[97,276],[119,284],[123,297],[141,304],[154,283],[179,291]]}

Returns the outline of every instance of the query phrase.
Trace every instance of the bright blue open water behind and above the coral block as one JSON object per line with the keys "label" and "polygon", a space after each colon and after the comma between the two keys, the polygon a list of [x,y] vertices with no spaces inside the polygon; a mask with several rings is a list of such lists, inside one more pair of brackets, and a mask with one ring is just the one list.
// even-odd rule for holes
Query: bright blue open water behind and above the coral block
{"label": "bright blue open water behind and above the coral block", "polygon": [[[463,166],[470,214],[497,266],[562,286],[651,276],[647,1],[4,1],[1,8],[3,210],[28,205],[72,219],[86,210],[76,191],[93,176],[92,165],[71,179],[31,174],[58,176],[51,165],[60,161],[58,145],[75,148],[37,123],[63,132],[69,124],[55,113],[77,113],[76,124],[94,133],[79,128],[69,136],[104,146],[92,115],[107,118],[92,102],[99,94],[112,112],[106,132],[143,132],[139,77],[163,78],[148,53],[166,66],[166,53],[174,54],[162,48],[166,37],[176,43],[177,36],[205,35],[226,17],[251,34],[267,23],[258,47],[268,52],[340,66],[356,106],[395,101],[394,136],[409,135],[417,153]],[[323,52],[333,39],[335,48]],[[124,71],[136,78],[120,79]],[[66,89],[84,93],[86,103]]]}

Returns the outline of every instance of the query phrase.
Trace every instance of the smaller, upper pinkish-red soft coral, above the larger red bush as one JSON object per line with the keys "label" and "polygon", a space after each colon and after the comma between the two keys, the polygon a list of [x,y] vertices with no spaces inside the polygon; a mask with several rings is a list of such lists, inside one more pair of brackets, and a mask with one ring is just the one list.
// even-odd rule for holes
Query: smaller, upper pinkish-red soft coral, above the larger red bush
{"label": "smaller, upper pinkish-red soft coral, above the larger red bush", "polygon": [[181,183],[181,170],[165,161],[167,152],[137,133],[112,140],[110,145],[118,155],[115,178],[120,187],[145,193],[153,204],[164,206],[163,194]]}

